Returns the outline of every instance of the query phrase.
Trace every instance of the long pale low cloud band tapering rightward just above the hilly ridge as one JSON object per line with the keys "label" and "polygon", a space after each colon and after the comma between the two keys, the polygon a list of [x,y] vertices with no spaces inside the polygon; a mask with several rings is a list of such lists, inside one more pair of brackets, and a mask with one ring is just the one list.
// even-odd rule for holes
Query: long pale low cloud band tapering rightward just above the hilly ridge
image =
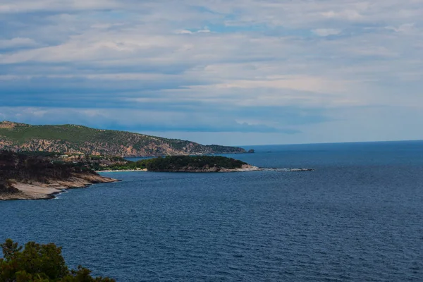
{"label": "long pale low cloud band tapering rightward just above the hilly ridge", "polygon": [[32,124],[78,123],[94,128],[132,131],[238,132],[238,133],[300,133],[290,128],[237,122],[230,117],[209,114],[185,114],[172,111],[137,111],[136,109],[69,109],[42,107],[0,107],[4,120]]}

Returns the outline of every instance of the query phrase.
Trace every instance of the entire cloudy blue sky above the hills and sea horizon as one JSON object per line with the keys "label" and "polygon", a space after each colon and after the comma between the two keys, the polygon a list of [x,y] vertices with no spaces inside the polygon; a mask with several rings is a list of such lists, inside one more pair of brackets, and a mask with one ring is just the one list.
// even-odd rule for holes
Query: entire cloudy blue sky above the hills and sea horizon
{"label": "entire cloudy blue sky above the hills and sea horizon", "polygon": [[422,15],[423,0],[1,0],[0,120],[422,140]]}

